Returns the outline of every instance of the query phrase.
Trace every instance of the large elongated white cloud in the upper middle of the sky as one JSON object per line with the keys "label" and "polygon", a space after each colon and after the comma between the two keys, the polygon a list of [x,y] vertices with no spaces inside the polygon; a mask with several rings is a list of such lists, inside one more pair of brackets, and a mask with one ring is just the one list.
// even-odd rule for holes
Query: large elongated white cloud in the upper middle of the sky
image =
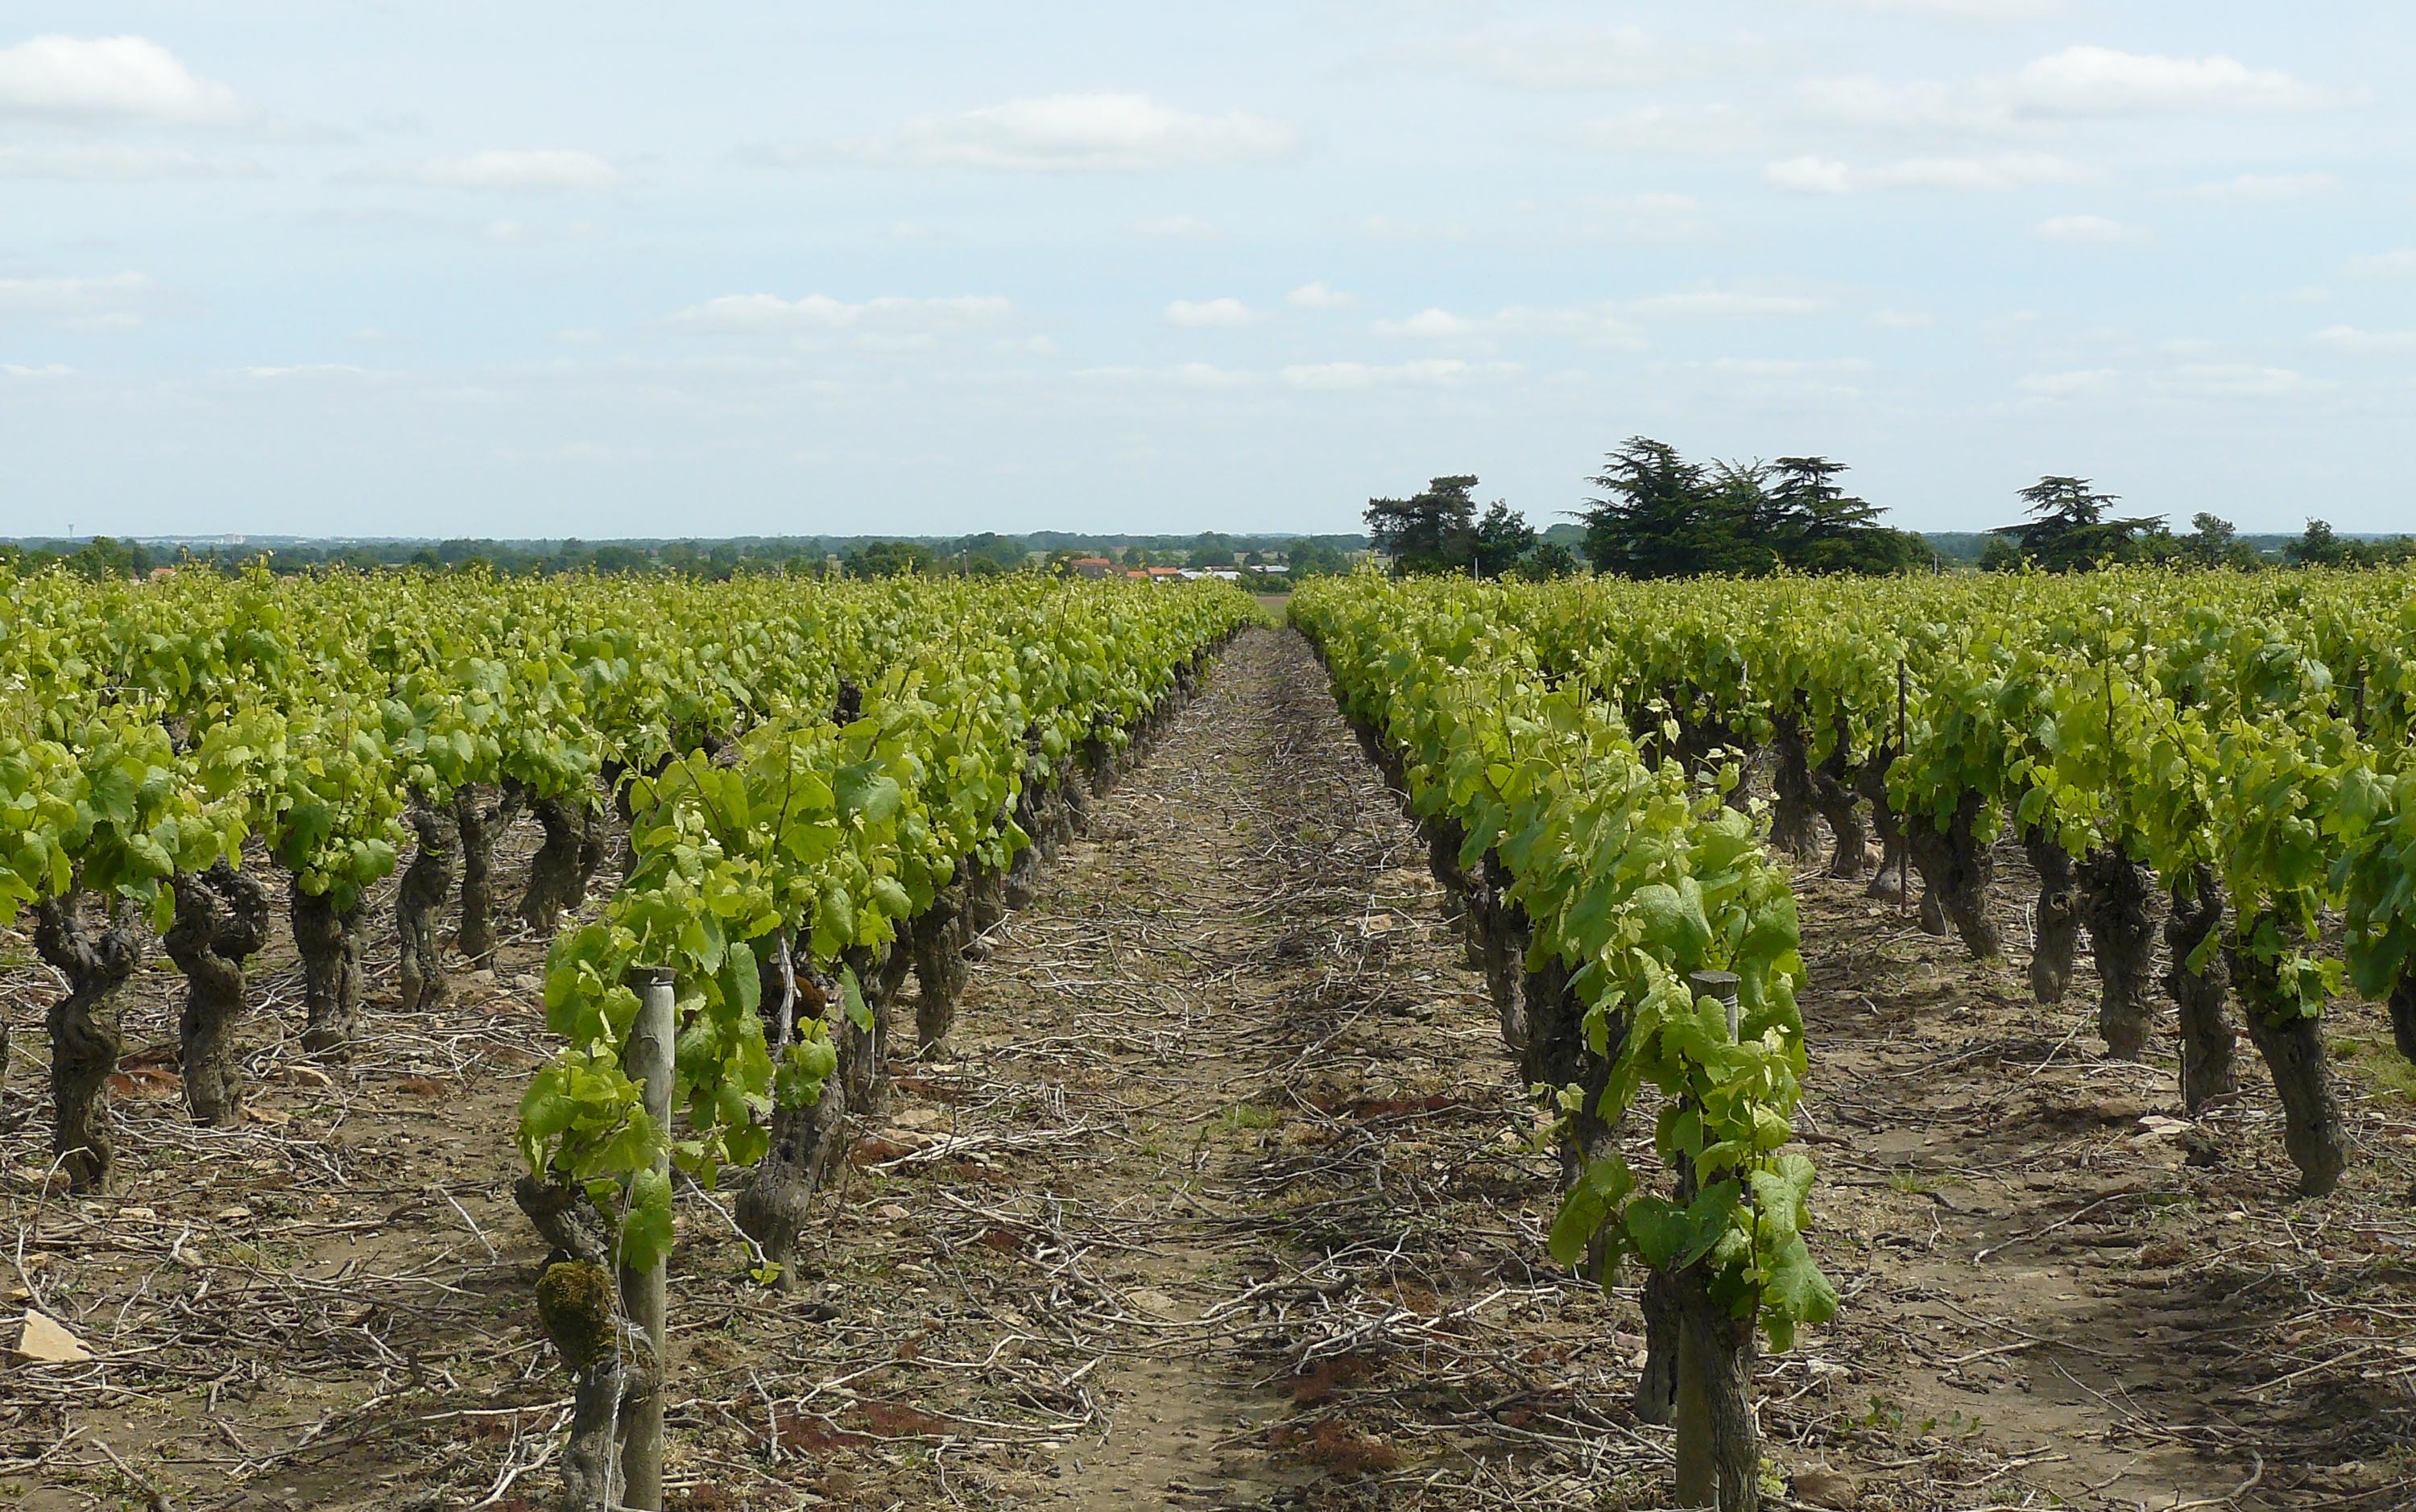
{"label": "large elongated white cloud in the upper middle of the sky", "polygon": [[[1148,174],[1285,157],[1297,145],[1290,126],[1242,111],[1196,116],[1148,94],[1051,94],[962,116],[918,116],[894,135],[843,143],[838,152],[913,167]],[[788,152],[773,157],[800,159]]]}

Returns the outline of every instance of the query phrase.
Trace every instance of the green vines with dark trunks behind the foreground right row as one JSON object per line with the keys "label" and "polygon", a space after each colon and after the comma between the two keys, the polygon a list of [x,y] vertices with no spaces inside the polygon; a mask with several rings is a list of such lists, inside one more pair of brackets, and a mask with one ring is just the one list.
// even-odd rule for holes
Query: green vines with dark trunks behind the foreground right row
{"label": "green vines with dark trunks behind the foreground right row", "polygon": [[[2406,572],[1590,585],[1498,611],[1682,756],[1771,746],[1783,831],[1826,807],[1858,833],[1868,797],[1976,956],[2003,952],[1991,845],[2010,828],[2042,877],[2034,990],[2061,998],[2085,932],[2116,1056],[2148,1041],[2165,894],[2184,1101],[2237,1089],[2237,998],[2307,1193],[2348,1159],[2327,1000],[2387,998],[2416,1053]],[[1858,862],[1841,843],[1836,870]]]}

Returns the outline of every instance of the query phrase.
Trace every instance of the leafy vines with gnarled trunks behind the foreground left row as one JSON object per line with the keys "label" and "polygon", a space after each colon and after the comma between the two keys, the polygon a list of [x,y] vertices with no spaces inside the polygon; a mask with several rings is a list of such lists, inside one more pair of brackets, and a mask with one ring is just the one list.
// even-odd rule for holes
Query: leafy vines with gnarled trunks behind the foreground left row
{"label": "leafy vines with gnarled trunks behind the foreground left row", "polygon": [[[493,949],[493,838],[515,812],[546,831],[522,915],[548,930],[606,860],[604,814],[614,802],[631,812],[633,775],[831,710],[858,686],[995,684],[1003,659],[1029,667],[1017,688],[991,693],[1003,700],[991,717],[1020,715],[1044,744],[1063,744],[1075,722],[1131,717],[1155,691],[1143,679],[1165,674],[1150,659],[1114,667],[1099,647],[1198,642],[1239,613],[1213,599],[1039,582],[12,577],[0,609],[0,918],[34,908],[36,947],[70,983],[51,1010],[65,1171],[80,1188],[109,1176],[94,1099],[118,1053],[109,1002],[145,949],[145,923],[188,981],[186,1101],[205,1123],[242,1116],[232,1029],[246,1012],[242,966],[271,915],[246,850],[288,877],[307,1041],[341,1056],[360,1029],[365,899],[403,855],[413,1007],[445,993],[432,908],[454,870],[461,949]],[[988,809],[1017,773],[971,773],[969,758],[952,751],[918,778],[933,804],[913,814],[908,889],[995,848]]]}

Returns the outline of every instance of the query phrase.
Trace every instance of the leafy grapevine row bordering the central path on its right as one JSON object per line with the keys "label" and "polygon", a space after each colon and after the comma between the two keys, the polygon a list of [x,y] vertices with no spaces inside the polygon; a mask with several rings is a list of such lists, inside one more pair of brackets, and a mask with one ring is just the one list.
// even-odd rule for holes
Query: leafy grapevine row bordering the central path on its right
{"label": "leafy grapevine row bordering the central path on its right", "polygon": [[[1756,1326],[1788,1348],[1836,1309],[1802,1239],[1812,1162],[1783,1150],[1805,1072],[1785,872],[1713,783],[1546,676],[1496,589],[1360,577],[1293,618],[1469,911],[1527,1080],[1558,1089],[1553,1254],[1648,1268],[1636,1406],[1677,1423],[1679,1502],[1752,1507]],[[1643,1087],[1665,1191],[1611,1138]]]}

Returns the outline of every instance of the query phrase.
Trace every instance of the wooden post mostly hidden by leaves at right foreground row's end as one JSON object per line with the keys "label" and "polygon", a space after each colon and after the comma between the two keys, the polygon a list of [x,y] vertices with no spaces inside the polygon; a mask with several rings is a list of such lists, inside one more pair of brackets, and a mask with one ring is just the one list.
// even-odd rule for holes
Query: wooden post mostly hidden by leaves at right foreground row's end
{"label": "wooden post mostly hidden by leaves at right foreground row's end", "polygon": [[[1727,1007],[1727,1039],[1737,1039],[1737,973],[1694,971],[1696,998]],[[1691,1167],[1691,1162],[1689,1162]],[[1682,1171],[1694,1196],[1694,1169]],[[1761,1493],[1761,1442],[1754,1427],[1754,1319],[1735,1319],[1708,1290],[1706,1263],[1677,1275],[1677,1505],[1754,1512]]]}

